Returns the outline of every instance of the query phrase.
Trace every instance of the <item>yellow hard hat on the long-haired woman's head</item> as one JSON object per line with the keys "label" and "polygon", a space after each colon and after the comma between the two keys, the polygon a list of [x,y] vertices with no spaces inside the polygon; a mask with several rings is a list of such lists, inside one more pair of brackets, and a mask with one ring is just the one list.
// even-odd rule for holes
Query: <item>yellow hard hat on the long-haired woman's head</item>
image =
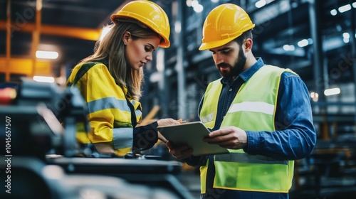
{"label": "yellow hard hat on the long-haired woman's head", "polygon": [[162,36],[164,41],[159,43],[159,47],[168,48],[171,45],[168,16],[160,6],[152,1],[131,1],[116,14],[112,14],[111,21],[117,23],[117,18],[134,18],[140,21]]}

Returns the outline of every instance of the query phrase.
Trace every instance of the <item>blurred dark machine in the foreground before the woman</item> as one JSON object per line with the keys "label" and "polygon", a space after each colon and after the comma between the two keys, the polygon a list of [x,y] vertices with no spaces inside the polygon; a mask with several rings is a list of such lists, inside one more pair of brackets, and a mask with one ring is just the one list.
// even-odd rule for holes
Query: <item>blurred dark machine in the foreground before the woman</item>
{"label": "blurred dark machine in the foreground before the woman", "polygon": [[11,90],[0,100],[0,198],[192,198],[177,161],[80,146],[75,125],[88,122],[75,88],[23,80]]}

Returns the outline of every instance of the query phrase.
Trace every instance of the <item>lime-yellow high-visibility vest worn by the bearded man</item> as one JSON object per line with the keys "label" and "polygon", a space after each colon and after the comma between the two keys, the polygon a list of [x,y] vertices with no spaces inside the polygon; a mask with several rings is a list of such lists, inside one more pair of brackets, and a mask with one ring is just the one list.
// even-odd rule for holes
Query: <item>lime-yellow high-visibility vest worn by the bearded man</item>
{"label": "lime-yellow high-visibility vest worn by the bearded man", "polygon": [[[221,127],[235,126],[246,131],[274,131],[277,94],[281,74],[292,72],[264,65],[239,89]],[[293,72],[294,73],[294,72]],[[201,122],[214,128],[221,79],[211,82],[201,107]],[[214,188],[229,190],[288,193],[292,185],[294,161],[262,155],[249,155],[243,149],[229,149],[231,154],[214,156]],[[206,166],[201,166],[201,193],[206,192]]]}

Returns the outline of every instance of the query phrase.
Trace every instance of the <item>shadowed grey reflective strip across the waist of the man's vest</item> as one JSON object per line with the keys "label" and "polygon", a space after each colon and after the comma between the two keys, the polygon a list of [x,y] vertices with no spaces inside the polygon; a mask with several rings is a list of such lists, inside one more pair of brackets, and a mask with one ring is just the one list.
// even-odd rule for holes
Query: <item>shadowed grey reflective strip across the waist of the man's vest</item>
{"label": "shadowed grey reflective strip across the waist of the man's vest", "polygon": [[246,153],[233,153],[216,155],[215,161],[239,162],[239,163],[265,163],[265,164],[288,164],[288,161],[281,161],[275,158],[261,155],[249,155]]}

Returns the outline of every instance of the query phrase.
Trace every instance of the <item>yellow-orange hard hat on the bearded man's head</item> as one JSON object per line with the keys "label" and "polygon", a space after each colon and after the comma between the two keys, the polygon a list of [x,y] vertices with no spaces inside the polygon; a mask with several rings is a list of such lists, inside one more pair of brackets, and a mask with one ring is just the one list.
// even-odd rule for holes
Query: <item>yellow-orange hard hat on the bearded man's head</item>
{"label": "yellow-orange hard hat on the bearded man's head", "polygon": [[199,50],[225,45],[253,27],[255,24],[241,7],[235,4],[216,6],[204,21]]}

